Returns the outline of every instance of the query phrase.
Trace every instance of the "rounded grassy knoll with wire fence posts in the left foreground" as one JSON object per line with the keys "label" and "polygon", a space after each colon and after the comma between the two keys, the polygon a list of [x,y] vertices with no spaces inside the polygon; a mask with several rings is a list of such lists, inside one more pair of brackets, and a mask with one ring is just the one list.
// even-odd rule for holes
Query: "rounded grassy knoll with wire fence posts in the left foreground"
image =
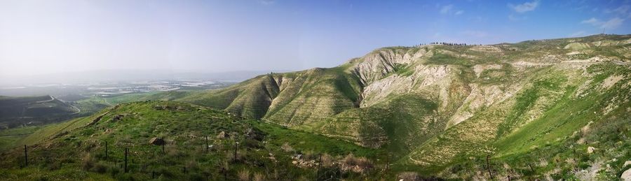
{"label": "rounded grassy knoll with wire fence posts in the left foreground", "polygon": [[[97,119],[100,115],[102,117]],[[121,120],[114,119],[120,115],[123,115]],[[233,138],[217,138],[222,131]],[[248,135],[261,135],[262,138]],[[209,136],[210,145],[215,145],[217,150],[204,153],[205,136]],[[167,140],[166,154],[161,153],[161,147],[149,144],[154,137]],[[107,159],[104,157],[106,141],[109,143]],[[231,162],[235,141],[240,142],[238,161]],[[234,179],[245,169],[268,178],[272,175],[265,169],[276,169],[280,178],[312,178],[314,170],[293,166],[290,156],[301,152],[305,157],[315,159],[314,154],[342,157],[352,152],[358,156],[379,157],[377,150],[342,140],[240,120],[224,111],[168,101],[124,103],[92,117],[46,126],[26,138],[24,143],[29,145],[31,166],[26,170],[16,169],[23,164],[20,148],[3,152],[0,154],[3,168],[0,178],[147,180],[154,171],[163,179],[188,180],[219,177],[222,166],[228,177]],[[290,145],[293,151],[284,151],[281,149],[283,145]],[[133,159],[130,161],[131,173],[127,174],[121,173],[119,167],[124,147],[130,148],[130,159]],[[267,158],[270,155],[274,155],[278,162]],[[262,166],[252,167],[259,164]],[[183,168],[187,169],[186,173]],[[77,169],[80,171],[61,175]]]}

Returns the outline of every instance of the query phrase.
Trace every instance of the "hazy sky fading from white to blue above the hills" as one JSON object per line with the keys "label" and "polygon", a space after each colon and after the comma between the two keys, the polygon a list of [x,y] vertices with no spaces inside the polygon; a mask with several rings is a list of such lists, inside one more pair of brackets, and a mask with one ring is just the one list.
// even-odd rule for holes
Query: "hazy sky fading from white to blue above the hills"
{"label": "hazy sky fading from white to blue above the hills", "polygon": [[0,1],[0,78],[300,70],[379,47],[631,33],[630,1]]}

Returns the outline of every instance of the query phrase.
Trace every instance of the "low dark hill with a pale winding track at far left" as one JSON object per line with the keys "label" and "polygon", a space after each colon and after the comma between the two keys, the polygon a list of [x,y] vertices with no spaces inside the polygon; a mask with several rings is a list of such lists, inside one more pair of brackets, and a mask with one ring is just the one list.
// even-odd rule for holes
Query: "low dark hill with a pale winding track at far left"
{"label": "low dark hill with a pale winding track at far left", "polygon": [[0,96],[0,129],[21,124],[46,124],[81,112],[54,96]]}

